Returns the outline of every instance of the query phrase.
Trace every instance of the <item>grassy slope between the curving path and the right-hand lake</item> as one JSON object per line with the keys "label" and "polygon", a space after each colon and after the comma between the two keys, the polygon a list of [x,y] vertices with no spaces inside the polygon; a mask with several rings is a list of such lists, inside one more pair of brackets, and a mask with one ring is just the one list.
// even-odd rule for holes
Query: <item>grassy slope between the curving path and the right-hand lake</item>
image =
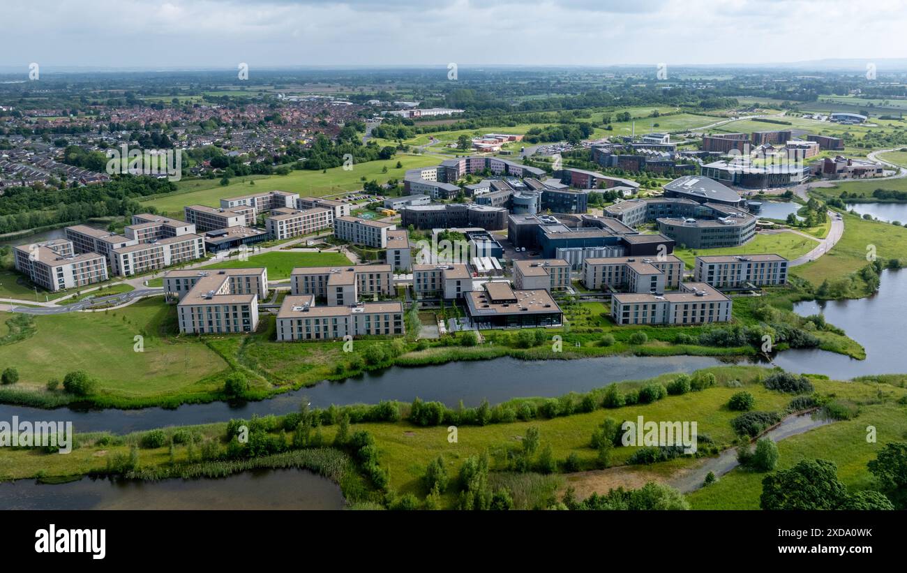
{"label": "grassy slope between the curving path and the right-hand lake", "polygon": [[876,257],[907,259],[907,228],[878,221],[867,221],[855,215],[844,215],[844,237],[822,257],[792,272],[818,286],[826,278],[847,277],[868,264],[867,249],[875,246]]}

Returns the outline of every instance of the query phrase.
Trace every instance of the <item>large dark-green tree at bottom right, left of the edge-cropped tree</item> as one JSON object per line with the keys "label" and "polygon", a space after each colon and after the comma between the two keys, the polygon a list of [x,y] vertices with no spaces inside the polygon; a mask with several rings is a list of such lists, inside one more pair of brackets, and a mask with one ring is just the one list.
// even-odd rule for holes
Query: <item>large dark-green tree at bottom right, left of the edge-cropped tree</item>
{"label": "large dark-green tree at bottom right, left of the edge-cropped tree", "polygon": [[763,510],[834,510],[847,500],[834,461],[803,460],[790,470],[776,471],[762,481]]}

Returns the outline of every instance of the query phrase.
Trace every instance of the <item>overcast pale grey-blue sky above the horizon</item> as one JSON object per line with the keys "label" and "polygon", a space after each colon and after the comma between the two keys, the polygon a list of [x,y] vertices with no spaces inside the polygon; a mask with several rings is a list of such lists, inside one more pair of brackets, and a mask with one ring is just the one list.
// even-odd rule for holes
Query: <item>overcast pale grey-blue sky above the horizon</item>
{"label": "overcast pale grey-blue sky above the horizon", "polygon": [[766,63],[907,56],[873,0],[0,0],[0,65]]}

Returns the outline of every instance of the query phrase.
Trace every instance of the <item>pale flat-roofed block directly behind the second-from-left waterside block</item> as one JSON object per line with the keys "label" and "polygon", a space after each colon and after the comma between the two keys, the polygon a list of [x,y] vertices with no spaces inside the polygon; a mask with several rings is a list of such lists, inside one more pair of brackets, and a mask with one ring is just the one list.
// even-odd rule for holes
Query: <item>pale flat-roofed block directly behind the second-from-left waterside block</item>
{"label": "pale flat-roofed block directly behind the second-from-left waterside block", "polygon": [[298,267],[290,277],[290,294],[312,295],[328,306],[353,305],[359,296],[392,296],[390,265],[350,267]]}

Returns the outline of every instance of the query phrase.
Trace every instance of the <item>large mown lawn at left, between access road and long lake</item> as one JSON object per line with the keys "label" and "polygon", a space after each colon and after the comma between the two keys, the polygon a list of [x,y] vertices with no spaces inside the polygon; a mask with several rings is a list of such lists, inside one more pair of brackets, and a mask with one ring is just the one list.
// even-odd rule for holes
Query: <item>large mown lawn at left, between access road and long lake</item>
{"label": "large mown lawn at left, between access road and long lake", "polygon": [[[29,338],[0,345],[0,364],[15,365],[16,389],[40,393],[51,378],[73,370],[96,377],[102,394],[112,398],[153,398],[216,390],[225,364],[209,348],[170,335],[174,306],[160,298],[141,300],[119,310],[34,316]],[[134,336],[144,336],[144,351],[134,352]]]}

